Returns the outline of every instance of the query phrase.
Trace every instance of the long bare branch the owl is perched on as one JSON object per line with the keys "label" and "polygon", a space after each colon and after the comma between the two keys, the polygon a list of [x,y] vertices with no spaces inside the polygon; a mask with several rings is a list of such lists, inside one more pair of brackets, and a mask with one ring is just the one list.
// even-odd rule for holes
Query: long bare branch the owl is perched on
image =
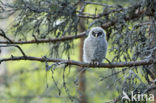
{"label": "long bare branch the owl is perched on", "polygon": [[31,56],[19,56],[19,57],[10,57],[0,59],[0,63],[6,61],[19,61],[19,60],[29,60],[29,61],[40,61],[40,62],[64,62],[64,64],[68,65],[76,65],[80,67],[91,67],[91,68],[120,68],[120,67],[132,67],[132,66],[143,66],[150,65],[156,63],[156,59],[148,59],[148,60],[140,60],[140,61],[130,61],[130,62],[119,62],[119,63],[101,63],[99,65],[84,63],[80,61],[74,60],[64,60],[64,59],[52,59],[52,58],[39,58],[39,57],[31,57]]}

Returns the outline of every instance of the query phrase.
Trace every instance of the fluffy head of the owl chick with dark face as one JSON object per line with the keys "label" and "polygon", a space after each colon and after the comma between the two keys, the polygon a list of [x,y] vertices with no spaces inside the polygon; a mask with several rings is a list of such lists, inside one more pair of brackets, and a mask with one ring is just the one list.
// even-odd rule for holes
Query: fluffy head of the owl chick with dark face
{"label": "fluffy head of the owl chick with dark face", "polygon": [[101,27],[93,27],[89,32],[89,36],[93,38],[105,38],[106,34]]}

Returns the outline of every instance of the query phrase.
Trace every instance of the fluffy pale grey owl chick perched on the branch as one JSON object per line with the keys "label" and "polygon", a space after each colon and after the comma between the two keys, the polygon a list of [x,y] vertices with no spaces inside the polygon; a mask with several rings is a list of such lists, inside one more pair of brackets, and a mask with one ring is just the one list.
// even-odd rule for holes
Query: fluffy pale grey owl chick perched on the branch
{"label": "fluffy pale grey owl chick perched on the branch", "polygon": [[101,27],[90,30],[84,41],[83,60],[88,63],[101,63],[106,56],[107,41],[106,34]]}

